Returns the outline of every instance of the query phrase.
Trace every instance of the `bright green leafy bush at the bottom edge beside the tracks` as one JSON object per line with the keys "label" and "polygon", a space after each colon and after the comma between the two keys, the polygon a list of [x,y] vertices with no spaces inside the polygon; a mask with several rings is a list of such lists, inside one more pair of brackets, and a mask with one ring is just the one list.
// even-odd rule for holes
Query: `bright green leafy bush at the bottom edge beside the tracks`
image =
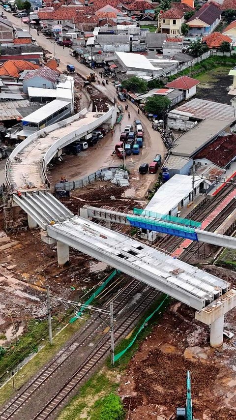
{"label": "bright green leafy bush at the bottom edge beside the tracks", "polygon": [[120,397],[114,393],[95,402],[90,420],[123,420],[125,411]]}

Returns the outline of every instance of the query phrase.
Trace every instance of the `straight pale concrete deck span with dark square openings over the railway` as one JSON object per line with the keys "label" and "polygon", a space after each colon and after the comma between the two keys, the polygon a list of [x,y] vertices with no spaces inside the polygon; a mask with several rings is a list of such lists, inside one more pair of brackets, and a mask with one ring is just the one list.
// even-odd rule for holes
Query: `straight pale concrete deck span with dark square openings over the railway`
{"label": "straight pale concrete deck span with dark square openings over the railway", "polygon": [[218,277],[78,216],[48,226],[48,235],[195,309],[202,309],[230,288]]}

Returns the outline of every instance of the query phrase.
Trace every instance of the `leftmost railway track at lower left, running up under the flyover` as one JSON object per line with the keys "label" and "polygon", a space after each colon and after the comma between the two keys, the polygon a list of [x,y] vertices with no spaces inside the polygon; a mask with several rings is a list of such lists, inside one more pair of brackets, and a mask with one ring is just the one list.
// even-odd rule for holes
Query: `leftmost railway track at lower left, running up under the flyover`
{"label": "leftmost railway track at lower left, running up under the flyover", "polygon": [[[125,285],[114,297],[114,316],[118,314],[120,308],[127,304],[130,297],[140,293],[147,286],[138,280],[132,280]],[[111,299],[110,299],[111,300]],[[108,300],[104,309],[109,308]],[[22,408],[32,397],[34,392],[43,386],[46,381],[68,360],[80,347],[82,347],[88,338],[92,337],[99,327],[103,327],[103,320],[95,316],[87,323],[85,328],[73,338],[73,340],[54,358],[41,372],[22,390],[8,405],[0,412],[1,420],[12,419],[13,416]]]}

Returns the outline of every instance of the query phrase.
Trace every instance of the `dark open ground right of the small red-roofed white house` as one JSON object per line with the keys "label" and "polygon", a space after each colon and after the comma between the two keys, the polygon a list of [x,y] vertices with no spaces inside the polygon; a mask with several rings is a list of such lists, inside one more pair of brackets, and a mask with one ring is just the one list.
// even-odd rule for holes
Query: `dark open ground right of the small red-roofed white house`
{"label": "dark open ground right of the small red-roofed white house", "polygon": [[232,96],[228,95],[227,90],[232,85],[232,76],[228,75],[230,68],[227,66],[216,67],[200,74],[197,77],[201,83],[197,87],[196,98],[231,105]]}

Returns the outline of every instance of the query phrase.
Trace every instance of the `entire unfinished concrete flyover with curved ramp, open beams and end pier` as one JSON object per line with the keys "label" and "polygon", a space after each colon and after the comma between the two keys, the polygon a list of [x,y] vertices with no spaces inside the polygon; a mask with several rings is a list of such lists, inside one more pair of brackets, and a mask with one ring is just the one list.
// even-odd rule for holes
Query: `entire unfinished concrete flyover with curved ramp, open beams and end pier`
{"label": "entire unfinished concrete flyover with curved ramp, open beams and end pier", "polygon": [[[6,165],[9,202],[26,211],[31,229],[37,225],[41,227],[42,240],[47,243],[57,242],[59,265],[69,260],[69,247],[73,247],[167,293],[197,310],[196,318],[211,325],[211,346],[219,347],[223,342],[224,314],[236,306],[236,290],[231,289],[228,282],[142,242],[104,228],[86,219],[89,214],[84,214],[84,217],[74,216],[47,191],[46,166],[55,153],[74,141],[75,135],[83,136],[102,122],[112,122],[115,112],[113,108],[100,116],[88,116],[87,124],[86,117],[82,117],[81,126],[73,127],[73,130],[71,117],[72,120],[68,119],[70,126],[66,133],[60,131],[60,123],[57,123],[54,130],[53,126],[47,127],[50,142],[38,141],[40,132],[36,138],[34,135],[29,136],[19,145],[20,149],[18,146],[13,151]],[[61,124],[65,124],[65,121]],[[33,177],[30,178],[28,160],[32,166],[32,155],[35,165],[32,168]],[[32,180],[32,184],[29,184],[27,177]]]}

